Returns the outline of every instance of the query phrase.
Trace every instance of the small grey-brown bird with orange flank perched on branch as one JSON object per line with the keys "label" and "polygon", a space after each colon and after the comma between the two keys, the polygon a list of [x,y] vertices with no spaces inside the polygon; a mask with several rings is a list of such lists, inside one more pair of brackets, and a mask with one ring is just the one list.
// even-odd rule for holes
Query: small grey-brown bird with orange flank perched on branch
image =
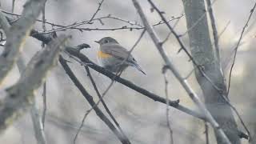
{"label": "small grey-brown bird with orange flank perched on branch", "polygon": [[102,67],[106,68],[106,70],[119,73],[125,70],[128,66],[134,66],[141,71],[142,74],[146,75],[132,54],[130,54],[130,52],[121,46],[114,38],[105,37],[94,42],[99,44],[97,53],[98,61]]}

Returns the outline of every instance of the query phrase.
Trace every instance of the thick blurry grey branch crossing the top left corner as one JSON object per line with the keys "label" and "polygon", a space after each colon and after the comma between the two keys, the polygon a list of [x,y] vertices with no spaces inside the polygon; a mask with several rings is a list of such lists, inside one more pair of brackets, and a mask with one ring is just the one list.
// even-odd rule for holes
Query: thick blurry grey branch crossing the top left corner
{"label": "thick blurry grey branch crossing the top left corner", "polygon": [[6,33],[5,50],[0,56],[0,84],[6,78],[6,74],[13,67],[18,58],[19,51],[24,44],[26,37],[40,14],[46,0],[29,0],[24,5],[22,17],[11,26]]}

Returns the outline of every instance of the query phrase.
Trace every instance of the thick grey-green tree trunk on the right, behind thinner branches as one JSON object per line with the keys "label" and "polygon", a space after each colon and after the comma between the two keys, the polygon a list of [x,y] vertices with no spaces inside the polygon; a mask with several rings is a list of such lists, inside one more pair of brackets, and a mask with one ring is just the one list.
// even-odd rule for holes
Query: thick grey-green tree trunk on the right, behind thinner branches
{"label": "thick grey-green tree trunk on the right, behind thinner branches", "polygon": [[[206,106],[222,127],[222,130],[224,130],[230,142],[232,144],[239,144],[238,127],[235,123],[232,110],[222,98],[222,95],[226,96],[226,83],[218,63],[218,58],[216,57],[210,41],[204,0],[182,0],[182,2],[186,14],[187,29],[189,30],[190,27],[193,26],[188,32],[191,54],[195,62],[197,62],[199,66],[202,66],[206,75],[220,89],[220,91],[215,90],[214,86],[203,77],[200,71],[198,69],[195,70],[197,81],[204,94]],[[198,22],[198,19],[201,18],[203,14],[205,15]],[[194,26],[194,23],[197,23],[196,26]],[[218,144],[222,143],[218,135],[216,135],[216,138]]]}

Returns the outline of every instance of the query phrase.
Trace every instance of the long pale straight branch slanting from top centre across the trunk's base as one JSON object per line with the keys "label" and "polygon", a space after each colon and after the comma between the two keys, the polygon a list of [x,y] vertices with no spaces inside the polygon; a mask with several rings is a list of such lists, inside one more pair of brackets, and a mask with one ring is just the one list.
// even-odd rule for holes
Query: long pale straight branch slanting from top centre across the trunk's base
{"label": "long pale straight branch slanting from top centre across the trunk's base", "polygon": [[161,54],[162,59],[166,62],[166,66],[168,66],[168,68],[173,72],[175,77],[178,78],[178,81],[182,84],[183,88],[186,90],[187,94],[194,101],[194,103],[200,108],[200,110],[202,110],[202,113],[205,115],[207,122],[210,122],[210,124],[214,127],[214,130],[216,130],[218,135],[222,138],[223,143],[230,144],[230,140],[226,137],[226,134],[220,128],[220,126],[218,125],[218,122],[214,120],[213,116],[210,114],[210,112],[206,109],[206,106],[198,98],[198,95],[194,93],[194,90],[192,90],[192,88],[190,87],[186,79],[184,80],[182,78],[182,76],[179,74],[176,67],[174,67],[174,65],[170,62],[170,59],[167,57],[165,51],[162,48],[162,44],[158,36],[155,34],[153,28],[150,26],[149,22],[147,21],[146,15],[142,11],[142,7],[139,5],[138,1],[137,0],[132,0],[132,1],[134,3],[134,7],[138,11],[138,14],[142,19],[144,26],[146,27],[148,34],[150,34],[150,37],[152,38],[155,46],[158,48],[158,51]]}

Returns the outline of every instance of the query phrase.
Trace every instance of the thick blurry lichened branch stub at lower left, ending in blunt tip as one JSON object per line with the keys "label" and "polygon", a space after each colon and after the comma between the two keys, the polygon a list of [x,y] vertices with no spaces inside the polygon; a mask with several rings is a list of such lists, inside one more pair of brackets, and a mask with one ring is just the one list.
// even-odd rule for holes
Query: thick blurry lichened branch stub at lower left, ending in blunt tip
{"label": "thick blurry lichened branch stub at lower left, ending in blunt tip", "polygon": [[46,73],[56,64],[56,58],[66,39],[66,36],[61,35],[50,42],[46,49],[31,58],[26,70],[14,86],[1,90],[4,99],[0,101],[0,133],[28,110],[34,100],[34,90],[41,86]]}

